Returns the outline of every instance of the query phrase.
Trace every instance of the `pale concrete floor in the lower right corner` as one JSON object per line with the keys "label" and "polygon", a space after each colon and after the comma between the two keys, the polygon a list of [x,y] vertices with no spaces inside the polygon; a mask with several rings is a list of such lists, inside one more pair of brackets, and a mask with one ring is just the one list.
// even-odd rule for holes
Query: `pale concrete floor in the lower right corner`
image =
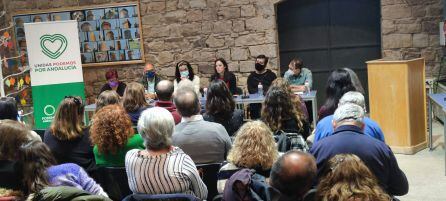
{"label": "pale concrete floor in the lower right corner", "polygon": [[409,181],[409,193],[401,201],[446,201],[443,125],[433,123],[434,150],[414,155],[395,154]]}

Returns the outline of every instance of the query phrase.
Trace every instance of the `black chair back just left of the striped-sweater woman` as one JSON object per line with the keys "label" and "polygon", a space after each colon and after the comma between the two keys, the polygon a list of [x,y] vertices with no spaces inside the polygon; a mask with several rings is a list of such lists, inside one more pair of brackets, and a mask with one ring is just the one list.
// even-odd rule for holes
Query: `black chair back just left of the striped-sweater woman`
{"label": "black chair back just left of the striped-sweater woman", "polygon": [[99,167],[91,176],[112,200],[122,200],[132,194],[125,167]]}

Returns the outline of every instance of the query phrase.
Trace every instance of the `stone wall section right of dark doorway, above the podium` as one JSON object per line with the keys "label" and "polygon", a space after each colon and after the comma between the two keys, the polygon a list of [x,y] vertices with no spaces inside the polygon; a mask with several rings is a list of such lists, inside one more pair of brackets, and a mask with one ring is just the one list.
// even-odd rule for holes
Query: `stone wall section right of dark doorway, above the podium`
{"label": "stone wall section right of dark doorway, above the podium", "polygon": [[437,76],[443,48],[439,22],[443,0],[381,0],[382,52],[386,59],[426,59],[426,76]]}

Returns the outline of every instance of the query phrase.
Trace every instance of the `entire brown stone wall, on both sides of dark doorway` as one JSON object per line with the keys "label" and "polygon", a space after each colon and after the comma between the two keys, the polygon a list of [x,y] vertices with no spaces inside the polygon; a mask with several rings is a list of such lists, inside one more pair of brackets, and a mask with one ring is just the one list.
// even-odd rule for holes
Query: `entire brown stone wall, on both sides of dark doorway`
{"label": "entire brown stone wall, on both sides of dark doorway", "polygon": [[[237,76],[239,86],[259,54],[270,57],[269,68],[278,71],[275,4],[280,0],[140,0],[145,59],[169,78],[179,60],[188,60],[202,86],[213,73],[213,60],[223,57]],[[92,6],[124,0],[3,0],[9,13],[75,6]],[[443,54],[438,23],[442,0],[381,0],[382,52],[389,59],[426,58],[427,75],[436,75]],[[9,16],[10,17],[10,16]],[[137,80],[143,65],[84,68],[86,94],[94,101],[104,74],[118,69],[120,79]]]}

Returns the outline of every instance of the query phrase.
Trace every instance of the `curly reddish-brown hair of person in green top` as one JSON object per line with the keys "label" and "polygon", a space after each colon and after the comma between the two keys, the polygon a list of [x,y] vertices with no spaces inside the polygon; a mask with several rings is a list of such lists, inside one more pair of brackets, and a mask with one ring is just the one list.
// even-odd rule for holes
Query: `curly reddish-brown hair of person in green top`
{"label": "curly reddish-brown hair of person in green top", "polygon": [[130,117],[120,105],[103,107],[92,122],[90,139],[102,154],[115,154],[134,134]]}

